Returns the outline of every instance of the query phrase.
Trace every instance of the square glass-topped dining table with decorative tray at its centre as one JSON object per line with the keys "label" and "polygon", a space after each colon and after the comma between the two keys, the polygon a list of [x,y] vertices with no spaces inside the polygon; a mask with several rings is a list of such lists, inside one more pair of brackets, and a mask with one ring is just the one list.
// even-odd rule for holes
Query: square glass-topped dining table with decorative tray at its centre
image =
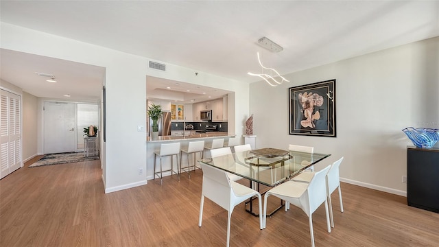
{"label": "square glass-topped dining table with decorative tray at its centre", "polygon": [[[331,154],[311,154],[275,148],[261,148],[215,158],[204,158],[199,162],[247,178],[250,180],[250,187],[254,187],[254,183],[257,183],[257,190],[259,191],[260,184],[275,187],[329,156]],[[246,207],[246,211],[256,215],[252,211],[252,200],[250,199],[246,204],[250,204],[250,209]],[[280,209],[282,205],[281,202],[281,206],[275,211]]]}

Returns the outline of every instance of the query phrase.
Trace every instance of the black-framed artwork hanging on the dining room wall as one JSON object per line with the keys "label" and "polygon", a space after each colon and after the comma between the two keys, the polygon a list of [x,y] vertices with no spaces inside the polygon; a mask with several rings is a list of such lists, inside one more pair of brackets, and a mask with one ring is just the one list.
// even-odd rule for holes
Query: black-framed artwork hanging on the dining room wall
{"label": "black-framed artwork hanging on the dining room wall", "polygon": [[289,134],[337,137],[335,79],[293,86],[289,93]]}

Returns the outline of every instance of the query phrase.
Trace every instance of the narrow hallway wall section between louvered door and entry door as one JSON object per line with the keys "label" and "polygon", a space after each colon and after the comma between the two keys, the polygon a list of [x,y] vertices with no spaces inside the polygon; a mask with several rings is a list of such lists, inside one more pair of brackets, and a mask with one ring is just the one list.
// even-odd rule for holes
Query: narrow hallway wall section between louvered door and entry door
{"label": "narrow hallway wall section between louvered door and entry door", "polygon": [[38,154],[38,98],[23,92],[23,162]]}

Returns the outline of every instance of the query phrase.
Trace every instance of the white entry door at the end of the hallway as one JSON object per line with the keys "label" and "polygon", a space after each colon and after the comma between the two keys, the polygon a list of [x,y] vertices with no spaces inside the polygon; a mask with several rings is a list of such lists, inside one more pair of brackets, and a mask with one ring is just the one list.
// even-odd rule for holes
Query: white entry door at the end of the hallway
{"label": "white entry door at the end of the hallway", "polygon": [[76,105],[45,102],[45,154],[76,151]]}

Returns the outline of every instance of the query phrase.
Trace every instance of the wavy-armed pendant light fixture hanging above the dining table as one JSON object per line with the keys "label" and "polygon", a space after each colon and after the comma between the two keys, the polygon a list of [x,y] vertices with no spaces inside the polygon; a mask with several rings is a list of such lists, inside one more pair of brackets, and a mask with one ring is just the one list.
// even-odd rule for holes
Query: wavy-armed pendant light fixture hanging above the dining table
{"label": "wavy-armed pendant light fixture hanging above the dining table", "polygon": [[[266,37],[259,38],[258,45],[261,45],[261,47],[264,47],[265,49],[268,49],[269,51],[272,51],[272,52],[283,51],[283,47],[274,43],[272,40],[270,40],[269,38],[266,38]],[[263,66],[263,64],[261,62],[261,58],[259,57],[259,52],[257,52],[257,57],[258,57],[259,65],[261,65],[261,68],[262,68],[262,73],[248,72],[247,73],[248,75],[258,76],[258,77],[262,78],[263,80],[265,80],[265,82],[267,82],[270,86],[278,86],[279,84],[282,84],[283,82],[289,82],[289,80],[283,78],[283,76],[281,76],[281,74],[279,74],[278,71],[276,71],[276,69],[272,69],[272,68],[268,68],[268,67]],[[270,74],[263,73],[264,69],[270,71]],[[273,72],[274,72],[274,75],[273,75]]]}

